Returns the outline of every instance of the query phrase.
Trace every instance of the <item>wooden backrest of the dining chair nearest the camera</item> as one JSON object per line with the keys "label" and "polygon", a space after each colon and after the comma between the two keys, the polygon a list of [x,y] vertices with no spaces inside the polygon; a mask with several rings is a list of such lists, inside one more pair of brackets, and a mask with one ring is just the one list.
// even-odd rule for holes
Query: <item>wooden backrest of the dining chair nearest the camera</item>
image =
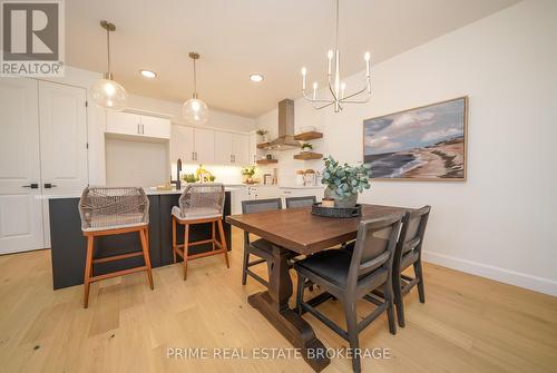
{"label": "wooden backrest of the dining chair nearest the camera", "polygon": [[387,269],[389,276],[391,275],[402,216],[403,214],[392,214],[360,222],[346,281],[348,287],[355,288],[359,279],[379,268]]}

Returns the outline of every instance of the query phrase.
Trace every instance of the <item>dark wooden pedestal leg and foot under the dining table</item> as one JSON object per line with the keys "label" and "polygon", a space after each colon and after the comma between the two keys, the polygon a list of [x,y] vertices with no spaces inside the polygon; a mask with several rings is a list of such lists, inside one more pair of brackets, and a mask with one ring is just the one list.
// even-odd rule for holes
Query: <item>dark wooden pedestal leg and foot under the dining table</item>
{"label": "dark wooden pedestal leg and foot under the dining table", "polygon": [[268,274],[268,288],[251,295],[247,301],[265,316],[281,334],[296,349],[300,349],[305,362],[321,372],[331,363],[326,357],[325,346],[317,340],[313,328],[296,312],[290,310],[292,279],[287,258],[292,252],[273,245],[273,256]]}

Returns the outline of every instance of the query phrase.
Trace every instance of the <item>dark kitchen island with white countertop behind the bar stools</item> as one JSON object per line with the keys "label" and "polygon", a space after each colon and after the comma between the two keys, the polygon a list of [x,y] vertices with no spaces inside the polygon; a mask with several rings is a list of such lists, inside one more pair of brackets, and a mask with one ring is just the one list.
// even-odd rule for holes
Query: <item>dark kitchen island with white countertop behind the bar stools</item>
{"label": "dark kitchen island with white countertop behind the bar stools", "polygon": [[[146,189],[149,198],[149,255],[153,267],[173,264],[172,252],[172,215],[173,206],[178,206],[180,190]],[[84,283],[87,239],[81,233],[79,217],[79,196],[48,196],[50,216],[50,243],[52,257],[53,288],[62,288]],[[231,215],[231,188],[226,188],[223,216]],[[231,245],[231,226],[223,222],[228,249]],[[184,227],[178,225],[177,237],[184,237]],[[211,238],[211,224],[198,224],[189,229],[190,241]],[[178,243],[182,239],[178,238]],[[98,237],[95,241],[95,257],[127,254],[140,251],[137,233]],[[196,245],[189,248],[190,254],[212,249],[211,244]],[[182,259],[179,259],[182,261]],[[95,274],[141,266],[141,257],[129,257],[117,262],[98,263]]]}

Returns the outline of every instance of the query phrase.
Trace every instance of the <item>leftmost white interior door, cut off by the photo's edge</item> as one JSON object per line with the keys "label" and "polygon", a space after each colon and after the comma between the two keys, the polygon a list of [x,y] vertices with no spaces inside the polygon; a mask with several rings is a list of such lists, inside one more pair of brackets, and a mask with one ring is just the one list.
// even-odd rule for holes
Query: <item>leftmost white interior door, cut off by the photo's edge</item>
{"label": "leftmost white interior door, cut off by the photo's edge", "polygon": [[0,78],[0,254],[43,247],[37,81]]}

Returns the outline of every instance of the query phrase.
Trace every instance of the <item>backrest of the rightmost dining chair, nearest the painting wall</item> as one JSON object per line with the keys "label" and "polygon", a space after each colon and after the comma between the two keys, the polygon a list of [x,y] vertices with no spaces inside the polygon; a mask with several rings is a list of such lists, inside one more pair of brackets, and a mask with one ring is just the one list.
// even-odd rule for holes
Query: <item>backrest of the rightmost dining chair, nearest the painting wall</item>
{"label": "backrest of the rightmost dining chair, nearest the painting wall", "polygon": [[417,258],[421,255],[430,210],[431,206],[423,206],[422,208],[407,212],[402,218],[402,228],[399,242],[397,243],[395,265],[399,264],[403,255],[412,251],[416,253]]}

